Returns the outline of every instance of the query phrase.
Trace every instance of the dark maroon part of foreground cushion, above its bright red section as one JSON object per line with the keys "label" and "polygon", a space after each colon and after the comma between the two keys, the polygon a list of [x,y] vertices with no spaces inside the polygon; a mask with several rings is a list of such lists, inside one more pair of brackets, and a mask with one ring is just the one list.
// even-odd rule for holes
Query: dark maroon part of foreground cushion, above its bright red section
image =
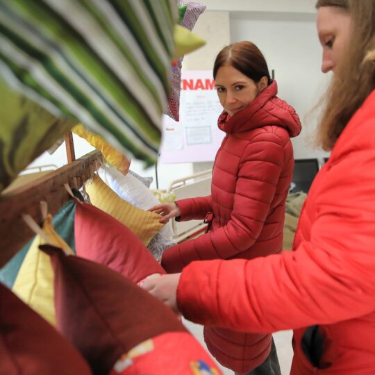
{"label": "dark maroon part of foreground cushion, above its bright red section", "polygon": [[55,247],[40,249],[51,256],[55,272],[58,330],[81,351],[94,374],[108,374],[120,356],[140,342],[166,332],[186,332],[172,310],[121,274],[65,256]]}

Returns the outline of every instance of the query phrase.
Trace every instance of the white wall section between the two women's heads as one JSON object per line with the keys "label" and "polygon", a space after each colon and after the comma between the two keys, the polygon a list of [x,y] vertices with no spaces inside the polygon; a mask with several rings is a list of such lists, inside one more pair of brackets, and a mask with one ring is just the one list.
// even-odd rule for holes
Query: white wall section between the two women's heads
{"label": "white wall section between the two women's heads", "polygon": [[251,40],[275,71],[278,96],[301,118],[303,131],[292,140],[295,158],[317,158],[326,153],[313,147],[319,111],[312,109],[323,94],[328,75],[322,74],[322,47],[315,15],[275,12],[232,12],[231,42]]}

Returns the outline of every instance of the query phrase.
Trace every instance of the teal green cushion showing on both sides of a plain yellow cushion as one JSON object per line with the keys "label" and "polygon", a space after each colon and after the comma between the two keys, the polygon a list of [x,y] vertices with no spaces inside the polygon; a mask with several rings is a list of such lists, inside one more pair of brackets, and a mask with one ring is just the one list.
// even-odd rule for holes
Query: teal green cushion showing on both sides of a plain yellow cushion
{"label": "teal green cushion showing on both sides of a plain yellow cushion", "polygon": [[[78,193],[79,194],[79,193]],[[80,194],[81,195],[81,194]],[[82,199],[80,196],[77,196]],[[76,241],[74,239],[74,215],[76,215],[76,202],[71,199],[61,210],[53,216],[52,223],[56,233],[69,245],[70,249],[76,253]],[[33,243],[32,238],[18,253],[9,260],[6,265],[0,268],[0,282],[12,289],[15,279],[21,268],[24,258]]]}

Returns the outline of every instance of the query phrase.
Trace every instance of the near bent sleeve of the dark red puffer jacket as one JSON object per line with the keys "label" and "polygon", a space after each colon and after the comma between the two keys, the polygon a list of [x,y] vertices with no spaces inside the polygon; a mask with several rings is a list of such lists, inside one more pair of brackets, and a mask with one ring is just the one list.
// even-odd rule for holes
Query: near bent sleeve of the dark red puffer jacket
{"label": "near bent sleeve of the dark red puffer jacket", "polygon": [[162,258],[165,270],[181,272],[193,260],[227,259],[249,249],[262,231],[285,161],[277,135],[253,138],[240,160],[230,219],[213,232],[167,249]]}

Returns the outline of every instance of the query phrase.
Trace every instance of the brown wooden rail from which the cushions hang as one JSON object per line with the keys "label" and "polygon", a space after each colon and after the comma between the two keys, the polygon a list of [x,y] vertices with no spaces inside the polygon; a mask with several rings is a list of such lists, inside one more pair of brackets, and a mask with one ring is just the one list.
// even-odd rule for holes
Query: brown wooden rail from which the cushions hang
{"label": "brown wooden rail from which the cushions hang", "polygon": [[35,233],[22,219],[29,214],[35,222],[42,224],[40,201],[46,201],[51,215],[69,200],[70,196],[64,188],[69,184],[72,188],[80,188],[90,178],[101,160],[99,151],[92,151],[61,168],[51,171],[31,183],[9,190],[0,195],[0,267],[31,240]]}

